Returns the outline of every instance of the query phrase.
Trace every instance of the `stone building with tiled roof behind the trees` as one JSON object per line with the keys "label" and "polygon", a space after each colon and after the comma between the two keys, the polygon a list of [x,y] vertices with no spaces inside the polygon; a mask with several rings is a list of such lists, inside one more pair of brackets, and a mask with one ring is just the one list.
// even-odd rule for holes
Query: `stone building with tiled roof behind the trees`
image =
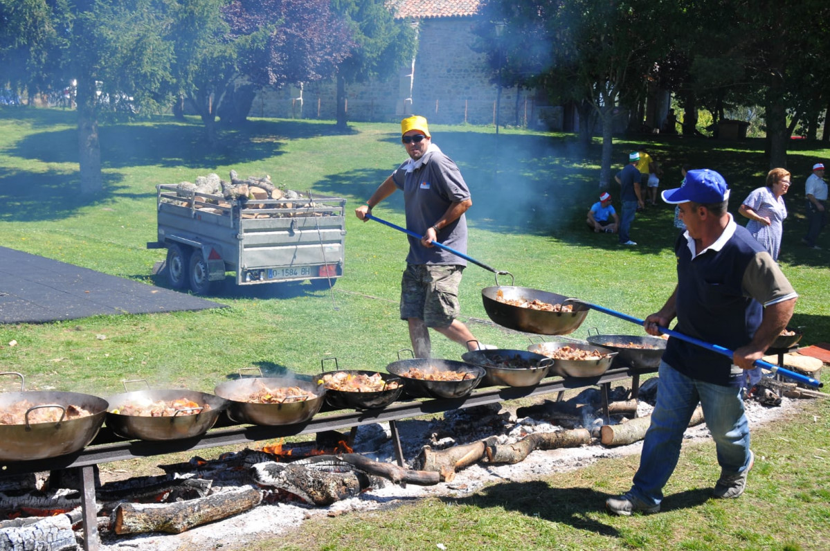
{"label": "stone building with tiled roof behind the trees", "polygon": [[[528,90],[502,88],[499,98],[496,76],[484,55],[472,50],[478,5],[479,0],[390,0],[396,17],[411,17],[417,25],[417,54],[398,76],[347,86],[348,119],[393,122],[416,114],[439,124],[535,126],[544,118],[557,126],[550,124],[551,110],[537,108]],[[334,119],[335,114],[334,80],[323,80],[261,90],[249,115]]]}

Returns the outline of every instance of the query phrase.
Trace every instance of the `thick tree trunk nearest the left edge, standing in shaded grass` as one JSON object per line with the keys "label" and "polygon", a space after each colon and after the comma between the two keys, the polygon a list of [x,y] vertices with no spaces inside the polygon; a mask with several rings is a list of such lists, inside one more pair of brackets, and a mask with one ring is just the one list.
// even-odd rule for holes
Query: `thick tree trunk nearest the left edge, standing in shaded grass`
{"label": "thick tree trunk nearest the left edge, standing in shaded grass", "polygon": [[98,139],[98,113],[95,108],[95,77],[79,76],[78,163],[81,168],[81,195],[92,196],[104,189],[101,176],[101,149]]}

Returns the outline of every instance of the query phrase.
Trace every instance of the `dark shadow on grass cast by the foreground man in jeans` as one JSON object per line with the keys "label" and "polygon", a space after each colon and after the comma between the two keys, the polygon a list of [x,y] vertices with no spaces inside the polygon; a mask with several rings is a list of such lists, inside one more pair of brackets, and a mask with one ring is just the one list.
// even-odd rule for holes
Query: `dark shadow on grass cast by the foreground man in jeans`
{"label": "dark shadow on grass cast by the foreground man in jeans", "polygon": [[[608,514],[609,524],[593,518],[605,513],[605,500],[614,497],[590,488],[552,488],[541,480],[506,482],[487,486],[476,495],[466,498],[442,498],[453,505],[471,505],[476,508],[501,507],[528,517],[536,517],[556,524],[567,524],[574,529],[593,532],[609,538],[620,538],[621,532],[611,523],[618,517]],[[711,498],[710,489],[686,490],[666,497],[662,513],[703,505]]]}

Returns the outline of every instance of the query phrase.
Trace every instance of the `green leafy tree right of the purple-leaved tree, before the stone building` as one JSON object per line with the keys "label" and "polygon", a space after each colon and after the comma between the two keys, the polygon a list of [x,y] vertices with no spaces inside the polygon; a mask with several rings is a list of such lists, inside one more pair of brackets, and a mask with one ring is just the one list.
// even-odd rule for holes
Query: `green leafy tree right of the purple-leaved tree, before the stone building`
{"label": "green leafy tree right of the purple-leaved tree, before the stone building", "polygon": [[411,22],[396,22],[385,0],[332,0],[334,13],[351,32],[349,56],[337,66],[337,126],[346,127],[346,85],[392,76],[415,56]]}

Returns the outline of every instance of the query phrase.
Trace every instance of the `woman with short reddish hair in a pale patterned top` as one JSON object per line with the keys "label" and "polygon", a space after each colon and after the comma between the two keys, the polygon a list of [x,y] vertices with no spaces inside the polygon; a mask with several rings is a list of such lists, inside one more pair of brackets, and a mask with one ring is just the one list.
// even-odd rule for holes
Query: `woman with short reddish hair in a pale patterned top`
{"label": "woman with short reddish hair in a pale patterned top", "polygon": [[781,237],[784,235],[784,218],[787,206],[784,193],[787,193],[790,174],[784,168],[773,168],[767,174],[767,185],[754,189],[738,209],[749,218],[746,229],[769,251],[774,261],[778,261],[781,250]]}

